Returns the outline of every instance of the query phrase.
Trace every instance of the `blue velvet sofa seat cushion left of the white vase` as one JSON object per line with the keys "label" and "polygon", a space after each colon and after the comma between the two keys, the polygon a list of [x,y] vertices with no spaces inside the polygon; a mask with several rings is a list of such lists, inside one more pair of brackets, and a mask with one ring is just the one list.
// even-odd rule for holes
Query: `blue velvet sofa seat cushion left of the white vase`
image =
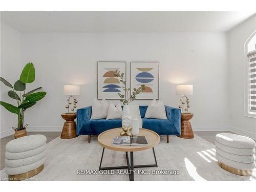
{"label": "blue velvet sofa seat cushion left of the white vase", "polygon": [[81,134],[98,135],[122,126],[122,119],[91,119],[82,125]]}

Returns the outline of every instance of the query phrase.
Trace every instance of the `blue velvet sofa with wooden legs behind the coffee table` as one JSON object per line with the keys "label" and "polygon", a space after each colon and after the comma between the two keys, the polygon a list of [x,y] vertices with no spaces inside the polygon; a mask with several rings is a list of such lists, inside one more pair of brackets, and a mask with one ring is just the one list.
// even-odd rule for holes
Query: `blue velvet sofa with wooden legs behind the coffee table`
{"label": "blue velvet sofa with wooden legs behind the coffee table", "polygon": [[[181,132],[181,110],[165,106],[167,119],[147,119],[145,117],[147,106],[139,106],[142,118],[142,127],[152,130],[159,135],[166,135],[169,142],[169,135],[180,135]],[[77,110],[77,135],[88,135],[90,142],[91,135],[99,135],[100,133],[113,128],[121,127],[121,119],[92,119],[92,106]]]}

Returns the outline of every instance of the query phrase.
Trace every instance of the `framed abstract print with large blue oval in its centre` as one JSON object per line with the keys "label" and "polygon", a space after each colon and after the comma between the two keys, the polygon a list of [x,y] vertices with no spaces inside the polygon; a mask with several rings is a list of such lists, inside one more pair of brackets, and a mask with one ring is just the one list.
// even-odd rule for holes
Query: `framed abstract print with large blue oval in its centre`
{"label": "framed abstract print with large blue oval in its centre", "polygon": [[131,62],[131,89],[145,85],[136,99],[159,99],[159,62]]}

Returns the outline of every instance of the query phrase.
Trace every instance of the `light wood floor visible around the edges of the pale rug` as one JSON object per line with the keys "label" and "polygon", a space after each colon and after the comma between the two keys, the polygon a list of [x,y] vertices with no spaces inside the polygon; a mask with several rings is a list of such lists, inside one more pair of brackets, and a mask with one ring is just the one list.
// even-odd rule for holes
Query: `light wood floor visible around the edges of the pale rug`
{"label": "light wood floor visible around the edges of the pale rug", "polygon": [[[211,142],[215,144],[215,136],[218,133],[223,132],[195,132],[199,137],[205,139],[208,142]],[[227,132],[228,133],[228,132]],[[230,133],[230,132],[229,132]],[[47,143],[49,143],[51,140],[55,139],[56,137],[60,136],[60,132],[28,132],[28,135],[35,135],[35,134],[41,134],[45,135],[47,137]],[[5,138],[0,139],[1,141],[1,167],[0,169],[5,168],[5,145],[14,139],[14,136],[8,136]],[[170,143],[172,143],[172,140],[170,139]]]}

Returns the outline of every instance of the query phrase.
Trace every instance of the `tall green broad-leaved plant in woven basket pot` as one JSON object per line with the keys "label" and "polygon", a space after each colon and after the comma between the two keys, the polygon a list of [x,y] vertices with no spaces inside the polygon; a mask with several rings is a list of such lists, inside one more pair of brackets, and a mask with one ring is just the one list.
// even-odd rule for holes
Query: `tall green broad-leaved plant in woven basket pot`
{"label": "tall green broad-leaved plant in woven basket pot", "polygon": [[[10,103],[0,101],[0,104],[4,106],[9,112],[18,115],[17,127],[12,127],[15,131],[14,137],[19,138],[27,135],[26,127],[28,124],[24,125],[24,114],[28,108],[31,108],[37,101],[45,97],[46,92],[36,92],[41,89],[41,87],[36,88],[32,91],[26,93],[27,83],[31,83],[35,80],[35,68],[32,62],[27,63],[24,67],[22,74],[20,74],[19,80],[17,80],[12,86],[7,80],[3,77],[0,77],[0,80],[11,90],[8,92],[8,96],[12,99],[15,99],[17,106],[14,106]],[[15,91],[18,91],[16,93]]]}

